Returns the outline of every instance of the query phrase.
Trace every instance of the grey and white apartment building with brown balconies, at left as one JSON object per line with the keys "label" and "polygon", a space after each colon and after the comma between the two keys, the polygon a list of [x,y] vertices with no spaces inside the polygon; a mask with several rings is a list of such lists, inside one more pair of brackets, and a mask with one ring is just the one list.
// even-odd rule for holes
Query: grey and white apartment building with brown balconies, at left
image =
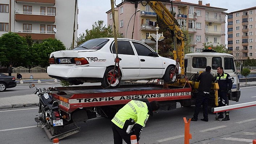
{"label": "grey and white apartment building with brown balconies, at left", "polygon": [[36,42],[56,38],[69,48],[77,41],[75,0],[0,0],[0,35],[9,31],[20,36],[31,35]]}

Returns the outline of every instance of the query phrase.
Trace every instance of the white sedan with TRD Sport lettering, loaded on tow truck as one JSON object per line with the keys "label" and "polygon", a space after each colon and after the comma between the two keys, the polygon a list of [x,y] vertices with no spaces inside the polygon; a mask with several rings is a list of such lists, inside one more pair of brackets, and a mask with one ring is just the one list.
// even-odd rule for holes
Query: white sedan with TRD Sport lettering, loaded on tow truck
{"label": "white sedan with TRD Sport lettering, loaded on tow truck", "polygon": [[159,56],[137,40],[118,38],[118,57],[120,69],[116,66],[114,70],[114,38],[91,39],[72,51],[52,52],[47,73],[52,78],[67,80],[71,85],[101,82],[103,87],[116,88],[121,80],[163,79],[174,83],[181,72],[175,60]]}

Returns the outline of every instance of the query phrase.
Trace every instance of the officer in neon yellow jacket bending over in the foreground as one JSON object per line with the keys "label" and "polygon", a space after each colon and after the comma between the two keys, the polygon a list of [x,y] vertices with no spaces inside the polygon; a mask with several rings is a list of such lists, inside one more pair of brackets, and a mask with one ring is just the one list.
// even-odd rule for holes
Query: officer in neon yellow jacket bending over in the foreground
{"label": "officer in neon yellow jacket bending over in the foreground", "polygon": [[[159,103],[157,101],[131,100],[128,102],[111,120],[113,122],[114,144],[123,144],[123,139],[127,144],[131,144],[131,135],[136,135],[137,141],[140,140],[142,128],[145,127],[149,115],[153,115],[153,111],[158,109]],[[133,124],[131,131],[128,131],[128,126]]]}

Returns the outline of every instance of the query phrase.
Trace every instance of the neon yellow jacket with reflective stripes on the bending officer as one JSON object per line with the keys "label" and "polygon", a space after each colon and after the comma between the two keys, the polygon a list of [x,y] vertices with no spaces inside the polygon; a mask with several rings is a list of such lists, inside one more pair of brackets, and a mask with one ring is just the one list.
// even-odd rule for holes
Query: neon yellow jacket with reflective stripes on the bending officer
{"label": "neon yellow jacket with reflective stripes on the bending officer", "polygon": [[148,106],[146,102],[131,100],[123,108],[121,108],[111,120],[116,126],[123,128],[127,119],[134,119],[134,121],[145,127],[148,121]]}

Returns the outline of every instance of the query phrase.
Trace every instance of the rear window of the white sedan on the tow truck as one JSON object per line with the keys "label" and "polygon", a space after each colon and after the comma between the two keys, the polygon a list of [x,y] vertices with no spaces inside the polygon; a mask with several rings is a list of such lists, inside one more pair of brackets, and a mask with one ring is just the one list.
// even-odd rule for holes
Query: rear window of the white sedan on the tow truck
{"label": "rear window of the white sedan on the tow truck", "polygon": [[91,39],[88,40],[80,45],[78,45],[76,48],[73,49],[73,51],[77,50],[85,50],[85,49],[101,49],[109,39]]}

